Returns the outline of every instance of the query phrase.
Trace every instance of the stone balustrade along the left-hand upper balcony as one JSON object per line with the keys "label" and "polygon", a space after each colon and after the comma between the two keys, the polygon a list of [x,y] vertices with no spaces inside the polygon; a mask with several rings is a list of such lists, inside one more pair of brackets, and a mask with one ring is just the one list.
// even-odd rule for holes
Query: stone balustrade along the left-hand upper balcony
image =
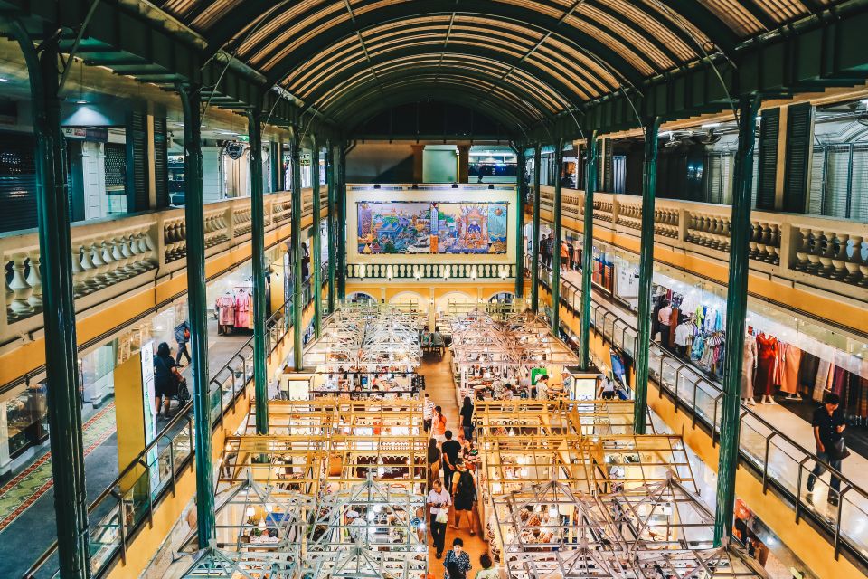
{"label": "stone balustrade along the left-hand upper balcony", "polygon": [[[308,214],[310,190],[306,190]],[[266,230],[291,219],[291,195],[265,196]],[[325,209],[325,205],[323,207]],[[250,239],[250,198],[205,205],[207,256]],[[184,269],[187,253],[184,209],[72,223],[72,277],[76,308],[89,308],[130,289]],[[42,275],[35,230],[0,235],[6,271],[0,335],[20,335],[42,327]],[[150,276],[147,278],[146,276]]]}

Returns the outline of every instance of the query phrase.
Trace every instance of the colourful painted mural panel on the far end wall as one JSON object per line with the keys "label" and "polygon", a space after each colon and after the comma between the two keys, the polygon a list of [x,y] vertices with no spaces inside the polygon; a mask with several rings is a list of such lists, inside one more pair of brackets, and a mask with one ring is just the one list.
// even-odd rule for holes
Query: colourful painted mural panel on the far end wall
{"label": "colourful painted mural panel on the far end wall", "polygon": [[506,253],[506,203],[360,202],[363,254]]}

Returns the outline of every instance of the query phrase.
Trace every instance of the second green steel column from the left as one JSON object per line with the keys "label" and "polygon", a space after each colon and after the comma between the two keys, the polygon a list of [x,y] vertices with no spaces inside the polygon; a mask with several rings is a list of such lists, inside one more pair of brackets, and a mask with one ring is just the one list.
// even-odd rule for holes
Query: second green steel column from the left
{"label": "second green steel column from the left", "polygon": [[205,304],[205,223],[202,193],[200,88],[180,88],[184,108],[184,218],[187,227],[187,316],[193,366],[196,430],[196,525],[199,545],[216,536],[211,447],[211,393],[208,375],[208,315]]}

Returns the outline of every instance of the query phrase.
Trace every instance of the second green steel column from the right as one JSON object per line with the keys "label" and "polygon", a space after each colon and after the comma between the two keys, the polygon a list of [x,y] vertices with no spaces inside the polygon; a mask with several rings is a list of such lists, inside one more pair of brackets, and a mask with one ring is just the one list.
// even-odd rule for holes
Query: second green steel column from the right
{"label": "second green steel column from the right", "polygon": [[[648,355],[651,339],[651,276],[654,274],[654,196],[657,187],[657,133],[660,119],[645,124],[645,163],[642,172],[642,233],[639,247],[639,316],[636,337],[636,388],[633,427],[645,434],[648,413]],[[583,251],[590,252],[590,247]]]}

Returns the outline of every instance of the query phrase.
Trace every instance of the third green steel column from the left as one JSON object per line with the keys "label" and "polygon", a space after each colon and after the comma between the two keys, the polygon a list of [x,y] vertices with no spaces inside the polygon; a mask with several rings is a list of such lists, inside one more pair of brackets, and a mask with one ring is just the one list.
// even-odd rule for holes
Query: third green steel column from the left
{"label": "third green steel column from the left", "polygon": [[269,432],[269,373],[266,360],[269,356],[265,342],[265,321],[268,317],[265,305],[265,204],[262,180],[262,126],[259,124],[259,109],[248,112],[250,134],[250,252],[253,262],[253,385],[256,397],[256,432]]}

